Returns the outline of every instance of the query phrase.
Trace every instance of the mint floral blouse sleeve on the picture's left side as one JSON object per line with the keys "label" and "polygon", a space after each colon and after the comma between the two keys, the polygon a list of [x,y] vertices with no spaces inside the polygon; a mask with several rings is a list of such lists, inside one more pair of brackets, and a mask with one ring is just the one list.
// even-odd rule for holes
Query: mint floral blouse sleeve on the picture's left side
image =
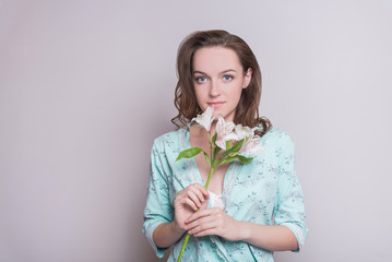
{"label": "mint floral blouse sleeve on the picture's left side", "polygon": [[156,255],[163,258],[166,248],[156,247],[153,240],[155,228],[163,223],[170,223],[174,219],[173,206],[169,201],[168,180],[171,176],[166,162],[164,148],[154,142],[151,151],[150,179],[147,186],[147,199],[144,209],[143,234],[150,245],[154,248]]}

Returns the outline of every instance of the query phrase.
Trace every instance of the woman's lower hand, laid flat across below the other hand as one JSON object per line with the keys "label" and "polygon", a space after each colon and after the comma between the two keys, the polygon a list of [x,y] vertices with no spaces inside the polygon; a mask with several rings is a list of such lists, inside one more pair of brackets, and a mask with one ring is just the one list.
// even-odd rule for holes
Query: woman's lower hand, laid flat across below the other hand
{"label": "woman's lower hand, laid flat across below the other hand", "polygon": [[218,207],[195,212],[185,223],[188,234],[195,237],[216,235],[231,241],[241,239],[240,222]]}

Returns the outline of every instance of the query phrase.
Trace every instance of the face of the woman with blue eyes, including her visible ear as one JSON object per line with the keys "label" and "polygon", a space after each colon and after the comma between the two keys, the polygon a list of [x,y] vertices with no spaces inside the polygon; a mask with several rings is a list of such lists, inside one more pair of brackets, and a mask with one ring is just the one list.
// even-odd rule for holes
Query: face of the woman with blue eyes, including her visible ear
{"label": "face of the woman with blue eyes, including her visible ear", "polygon": [[193,86],[198,104],[204,111],[213,106],[214,115],[234,121],[236,108],[251,80],[252,71],[243,74],[237,53],[225,47],[203,47],[193,55]]}

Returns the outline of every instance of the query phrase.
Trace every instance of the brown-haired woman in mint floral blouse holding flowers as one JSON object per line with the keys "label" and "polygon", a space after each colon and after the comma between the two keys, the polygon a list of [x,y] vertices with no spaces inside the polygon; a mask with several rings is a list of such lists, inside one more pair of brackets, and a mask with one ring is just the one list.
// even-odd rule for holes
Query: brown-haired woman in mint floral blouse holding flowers
{"label": "brown-haired woman in mint floral blouse holding flowers", "polygon": [[[144,211],[143,231],[157,255],[173,247],[175,261],[187,231],[194,237],[182,261],[273,261],[273,251],[298,251],[307,227],[294,145],[259,117],[261,73],[249,46],[225,31],[195,32],[179,47],[177,71],[171,121],[179,129],[154,141]],[[206,131],[191,122],[209,106],[226,121],[258,127],[263,151],[248,164],[216,168],[207,191],[204,156],[176,158],[194,146],[210,152]]]}

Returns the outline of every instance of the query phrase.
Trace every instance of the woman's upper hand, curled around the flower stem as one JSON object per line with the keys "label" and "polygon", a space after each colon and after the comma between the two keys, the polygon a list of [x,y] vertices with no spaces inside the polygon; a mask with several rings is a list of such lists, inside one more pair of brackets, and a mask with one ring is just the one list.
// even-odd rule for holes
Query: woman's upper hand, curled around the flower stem
{"label": "woman's upper hand, curled around the flower stem", "polygon": [[200,183],[192,183],[179,191],[175,199],[175,226],[185,230],[185,221],[194,212],[205,210],[209,203],[209,191]]}

